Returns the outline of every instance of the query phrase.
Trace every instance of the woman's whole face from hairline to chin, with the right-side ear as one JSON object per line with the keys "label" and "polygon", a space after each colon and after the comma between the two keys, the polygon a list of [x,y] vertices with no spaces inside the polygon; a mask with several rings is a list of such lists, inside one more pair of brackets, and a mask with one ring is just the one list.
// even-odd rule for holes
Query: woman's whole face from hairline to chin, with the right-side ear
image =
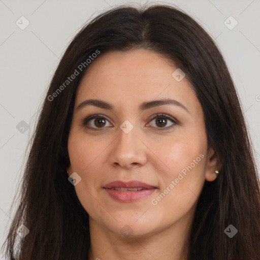
{"label": "woman's whole face from hairline to chin, with the right-side ear", "polygon": [[90,226],[150,236],[190,221],[218,170],[192,86],[145,49],[109,52],[90,65],[68,141],[68,172]]}

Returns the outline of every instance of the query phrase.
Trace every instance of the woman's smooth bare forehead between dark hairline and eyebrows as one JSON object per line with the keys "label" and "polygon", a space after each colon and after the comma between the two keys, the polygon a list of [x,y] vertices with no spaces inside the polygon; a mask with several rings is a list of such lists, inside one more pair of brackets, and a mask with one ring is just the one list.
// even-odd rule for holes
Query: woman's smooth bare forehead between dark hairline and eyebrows
{"label": "woman's smooth bare forehead between dark hairline and eyebrows", "polygon": [[[172,76],[178,69],[163,55],[145,49],[111,51],[92,61],[83,76],[75,106],[85,99],[101,99],[137,107],[144,101],[172,98],[186,107],[197,106],[191,84]],[[194,109],[194,108],[193,108]]]}

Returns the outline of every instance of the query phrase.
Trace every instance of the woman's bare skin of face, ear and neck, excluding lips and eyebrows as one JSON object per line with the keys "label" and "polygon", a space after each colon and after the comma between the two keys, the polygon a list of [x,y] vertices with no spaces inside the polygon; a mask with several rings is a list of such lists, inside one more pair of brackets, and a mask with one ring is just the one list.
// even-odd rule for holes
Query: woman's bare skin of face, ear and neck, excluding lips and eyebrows
{"label": "woman's bare skin of face, ear and neck, excluding lips and eyebrows", "polygon": [[[154,260],[161,255],[187,259],[182,248],[198,197],[205,180],[214,181],[220,166],[214,150],[207,147],[202,107],[187,79],[173,78],[176,69],[153,51],[113,51],[92,61],[80,82],[68,141],[68,173],[81,177],[75,190],[89,214],[91,260]],[[114,110],[92,105],[76,110],[88,99],[106,101]],[[138,110],[141,103],[160,99],[177,100],[188,112],[174,105]],[[165,124],[158,122],[152,119],[156,113],[165,113],[180,124],[168,119]],[[103,115],[105,123],[92,119],[87,125],[94,129],[83,126],[82,120],[94,114]],[[125,120],[134,127],[128,134],[120,128]],[[152,205],[200,154],[204,155],[200,162]],[[115,180],[140,180],[157,189],[139,201],[118,202],[103,188]],[[131,228],[126,228],[132,231],[129,237],[120,232],[125,225]]]}

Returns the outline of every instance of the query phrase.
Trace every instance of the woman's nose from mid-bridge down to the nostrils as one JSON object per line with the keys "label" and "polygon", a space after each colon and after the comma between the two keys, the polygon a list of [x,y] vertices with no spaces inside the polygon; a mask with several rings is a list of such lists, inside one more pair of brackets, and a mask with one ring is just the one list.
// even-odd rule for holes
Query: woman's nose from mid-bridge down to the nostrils
{"label": "woman's nose from mid-bridge down to the nostrils", "polygon": [[136,134],[135,127],[128,134],[120,128],[118,137],[113,142],[110,162],[113,166],[124,169],[140,167],[147,161],[147,147]]}

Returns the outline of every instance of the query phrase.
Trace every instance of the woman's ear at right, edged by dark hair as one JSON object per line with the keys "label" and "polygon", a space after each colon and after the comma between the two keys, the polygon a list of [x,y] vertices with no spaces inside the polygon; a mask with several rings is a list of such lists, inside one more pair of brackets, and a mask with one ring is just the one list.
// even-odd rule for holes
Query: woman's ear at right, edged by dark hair
{"label": "woman's ear at right, edged by dark hair", "polygon": [[214,181],[217,178],[217,173],[215,171],[220,171],[222,164],[218,163],[215,151],[210,147],[207,154],[206,163],[206,181]]}

